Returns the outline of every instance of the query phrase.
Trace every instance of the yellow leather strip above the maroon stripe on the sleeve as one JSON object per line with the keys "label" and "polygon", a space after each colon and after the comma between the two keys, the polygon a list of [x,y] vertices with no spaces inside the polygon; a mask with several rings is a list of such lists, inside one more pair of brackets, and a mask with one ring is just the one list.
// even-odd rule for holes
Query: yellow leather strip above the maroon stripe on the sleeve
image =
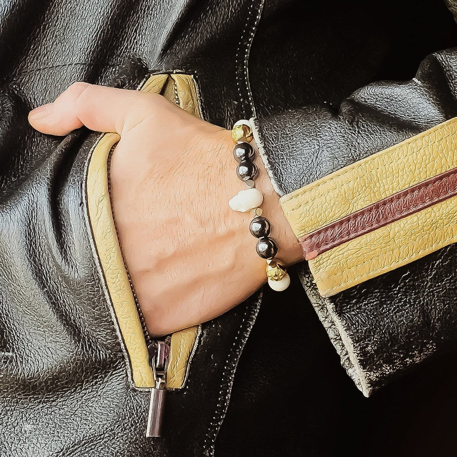
{"label": "yellow leather strip above the maroon stripe on the sleeve", "polygon": [[457,167],[457,118],[284,195],[297,238]]}

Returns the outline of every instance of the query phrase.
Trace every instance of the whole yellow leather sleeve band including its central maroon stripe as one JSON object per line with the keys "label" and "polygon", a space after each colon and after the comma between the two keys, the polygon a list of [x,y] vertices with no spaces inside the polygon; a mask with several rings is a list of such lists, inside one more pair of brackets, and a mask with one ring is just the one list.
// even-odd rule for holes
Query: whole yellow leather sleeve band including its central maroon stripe
{"label": "whole yellow leather sleeve band including its central maroon stripe", "polygon": [[[425,186],[428,180],[455,169],[456,123],[455,118],[443,122],[280,199],[323,297],[457,240],[455,200],[442,202],[455,195],[455,184],[450,182],[451,188],[447,189],[443,186],[446,181],[441,179],[426,209],[413,205],[419,189],[431,189]],[[393,204],[387,204],[389,197]],[[397,214],[390,214],[393,212]],[[346,220],[350,223],[344,224]],[[323,230],[317,239],[324,240],[324,244],[314,241],[315,246],[309,246],[313,240],[307,236],[319,229]]]}

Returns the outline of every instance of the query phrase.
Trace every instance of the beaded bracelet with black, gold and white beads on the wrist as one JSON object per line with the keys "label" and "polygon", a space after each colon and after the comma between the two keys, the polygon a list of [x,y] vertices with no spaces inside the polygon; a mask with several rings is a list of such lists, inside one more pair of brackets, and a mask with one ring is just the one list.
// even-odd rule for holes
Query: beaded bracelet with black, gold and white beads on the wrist
{"label": "beaded bracelet with black, gold and white beads on the wrist", "polygon": [[249,143],[253,139],[252,128],[249,121],[242,119],[235,123],[232,128],[232,138],[236,143],[233,156],[238,162],[237,175],[245,184],[247,189],[240,190],[235,197],[228,201],[228,206],[234,211],[246,213],[252,211],[254,218],[249,224],[251,235],[257,238],[255,250],[257,254],[267,260],[268,284],[273,290],[285,290],[290,284],[290,277],[284,267],[274,258],[278,252],[278,246],[273,238],[270,238],[270,221],[262,216],[262,209],[259,208],[264,197],[255,188],[255,179],[258,169],[254,164],[255,152]]}

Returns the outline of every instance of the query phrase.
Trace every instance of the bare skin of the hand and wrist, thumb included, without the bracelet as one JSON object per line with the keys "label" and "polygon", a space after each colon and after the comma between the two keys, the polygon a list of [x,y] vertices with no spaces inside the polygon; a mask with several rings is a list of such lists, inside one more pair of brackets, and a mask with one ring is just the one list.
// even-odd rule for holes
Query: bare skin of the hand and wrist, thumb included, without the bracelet
{"label": "bare skin of the hand and wrist, thumb included, without the bracelet", "polygon": [[[66,135],[83,125],[121,137],[112,156],[111,201],[119,241],[149,331],[165,335],[212,319],[266,281],[249,213],[228,200],[236,176],[231,133],[164,97],[75,83],[29,114],[32,127]],[[258,156],[258,154],[257,154]],[[285,266],[302,251],[257,159],[256,187]]]}

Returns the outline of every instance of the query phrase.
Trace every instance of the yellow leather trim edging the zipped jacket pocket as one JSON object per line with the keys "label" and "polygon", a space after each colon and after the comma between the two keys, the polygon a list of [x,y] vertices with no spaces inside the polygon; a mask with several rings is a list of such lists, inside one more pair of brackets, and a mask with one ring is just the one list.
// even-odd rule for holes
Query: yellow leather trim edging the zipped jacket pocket
{"label": "yellow leather trim edging the zipped jacket pocket", "polygon": [[[141,90],[167,96],[172,103],[201,117],[197,87],[190,75],[152,75]],[[89,222],[129,356],[133,381],[137,387],[153,387],[154,377],[148,363],[146,342],[125,271],[108,192],[108,158],[118,141],[118,135],[108,133],[93,149],[86,180]],[[199,327],[191,327],[172,335],[167,388],[180,388],[184,384],[198,334]]]}

